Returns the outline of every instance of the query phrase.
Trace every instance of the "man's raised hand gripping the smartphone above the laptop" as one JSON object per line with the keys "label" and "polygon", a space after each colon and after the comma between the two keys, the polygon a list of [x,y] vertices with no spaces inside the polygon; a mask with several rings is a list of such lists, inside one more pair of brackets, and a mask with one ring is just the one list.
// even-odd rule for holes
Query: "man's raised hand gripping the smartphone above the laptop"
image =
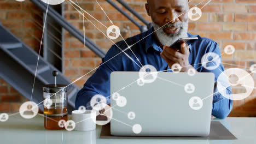
{"label": "man's raised hand gripping the smartphone above the laptop", "polygon": [[173,47],[164,46],[160,56],[165,59],[170,68],[175,63],[181,65],[181,72],[187,72],[190,68],[193,68],[189,64],[189,46],[185,41],[181,43],[180,51],[173,49]]}

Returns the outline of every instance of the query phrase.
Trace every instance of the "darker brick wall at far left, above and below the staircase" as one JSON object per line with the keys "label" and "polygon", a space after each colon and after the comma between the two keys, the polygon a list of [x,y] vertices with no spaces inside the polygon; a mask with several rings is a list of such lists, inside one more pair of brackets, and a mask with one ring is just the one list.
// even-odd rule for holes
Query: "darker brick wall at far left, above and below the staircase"
{"label": "darker brick wall at far left, above and below the staircase", "polygon": [[[0,21],[35,51],[39,51],[42,13],[29,1],[0,0]],[[38,41],[39,40],[39,41]],[[2,70],[2,69],[0,69]],[[0,77],[0,112],[18,112],[26,99]]]}

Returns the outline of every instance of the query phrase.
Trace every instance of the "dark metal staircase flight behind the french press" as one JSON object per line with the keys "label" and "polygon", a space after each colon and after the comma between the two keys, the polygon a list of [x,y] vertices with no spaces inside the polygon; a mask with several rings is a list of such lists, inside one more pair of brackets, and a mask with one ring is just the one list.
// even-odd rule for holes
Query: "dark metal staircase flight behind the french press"
{"label": "dark metal staircase flight behind the french press", "polygon": [[[39,57],[37,76],[31,98],[38,53],[16,38],[1,24],[0,33],[0,59],[2,59],[0,61],[0,77],[28,100],[32,99],[35,103],[40,103],[43,101],[43,85],[54,83],[52,72],[57,69],[46,62],[43,57]],[[69,85],[72,82],[59,71],[57,83]],[[75,84],[67,87],[69,111],[74,109],[74,101],[79,89]],[[43,110],[43,105],[39,105],[39,109]]]}

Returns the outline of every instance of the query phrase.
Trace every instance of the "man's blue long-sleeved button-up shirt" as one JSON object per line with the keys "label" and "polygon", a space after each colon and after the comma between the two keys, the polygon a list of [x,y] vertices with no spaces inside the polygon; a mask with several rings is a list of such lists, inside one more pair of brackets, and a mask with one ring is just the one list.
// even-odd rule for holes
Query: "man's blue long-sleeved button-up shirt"
{"label": "man's blue long-sleeved button-up shirt", "polygon": [[[170,68],[168,67],[167,62],[160,56],[162,49],[158,45],[155,35],[152,33],[153,31],[153,28],[150,28],[149,31],[135,35],[125,41],[131,46],[131,50],[142,65],[150,64],[158,71],[167,70],[168,72],[171,72],[172,70],[168,70]],[[217,81],[219,74],[224,70],[223,65],[220,64],[219,67],[214,70],[207,70],[203,68],[200,63],[202,56],[208,52],[217,53],[221,57],[218,44],[211,39],[202,38],[200,35],[192,35],[188,33],[188,37],[198,37],[198,40],[189,43],[189,63],[199,72],[214,73],[215,81]],[[110,95],[110,73],[112,73],[112,71],[139,71],[139,69],[141,69],[142,65],[137,61],[137,58],[133,55],[132,51],[127,49],[128,46],[125,41],[119,41],[116,45],[118,45],[120,49],[125,50],[127,55],[129,55],[129,57],[137,64],[125,55],[119,47],[113,45],[107,52],[107,55],[102,59],[102,65],[86,81],[84,87],[78,92],[75,100],[75,109],[78,109],[81,105],[90,107],[90,99],[96,94],[101,94],[105,97]],[[218,89],[215,86],[214,92],[217,91]],[[231,89],[228,88],[227,92],[231,94]],[[109,99],[107,99],[107,103],[110,103]],[[232,100],[226,99],[218,92],[213,95],[213,116],[217,118],[225,118],[228,116],[231,109]]]}

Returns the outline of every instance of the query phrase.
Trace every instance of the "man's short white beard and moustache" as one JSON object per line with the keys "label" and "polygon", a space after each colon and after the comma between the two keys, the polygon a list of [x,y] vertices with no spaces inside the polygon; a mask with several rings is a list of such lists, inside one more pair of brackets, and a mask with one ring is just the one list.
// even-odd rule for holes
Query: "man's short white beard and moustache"
{"label": "man's short white beard and moustache", "polygon": [[[154,27],[154,31],[156,33],[156,36],[158,37],[160,43],[162,45],[167,45],[170,46],[171,44],[173,44],[177,39],[179,38],[187,38],[188,37],[188,22],[177,22],[177,23],[168,23],[167,25],[163,26],[163,27],[159,27],[158,25],[156,25],[156,23],[154,23],[154,21],[152,21],[153,27]],[[174,34],[169,34],[166,33],[164,31],[164,28],[168,28],[168,27],[180,27],[179,31],[177,33]]]}

